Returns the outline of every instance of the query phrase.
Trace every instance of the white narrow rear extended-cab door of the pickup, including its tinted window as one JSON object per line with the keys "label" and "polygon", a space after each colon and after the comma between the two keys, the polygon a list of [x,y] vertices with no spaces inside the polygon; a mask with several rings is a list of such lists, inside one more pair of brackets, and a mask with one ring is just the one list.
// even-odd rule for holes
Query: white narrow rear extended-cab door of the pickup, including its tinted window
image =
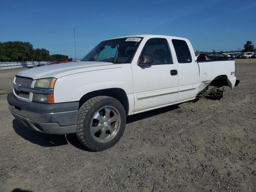
{"label": "white narrow rear extended-cab door of the pickup, including its tinted window", "polygon": [[179,73],[179,94],[177,102],[190,100],[196,96],[199,78],[194,50],[190,42],[185,38],[173,38],[172,45],[175,51],[174,62],[178,67]]}

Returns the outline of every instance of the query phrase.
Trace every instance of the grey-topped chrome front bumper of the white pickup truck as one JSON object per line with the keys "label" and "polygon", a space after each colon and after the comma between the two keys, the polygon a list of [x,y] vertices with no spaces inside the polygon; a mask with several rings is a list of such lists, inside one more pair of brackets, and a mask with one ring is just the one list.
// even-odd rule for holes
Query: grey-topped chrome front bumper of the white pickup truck
{"label": "grey-topped chrome front bumper of the white pickup truck", "polygon": [[[48,134],[69,134],[76,132],[76,121],[78,104],[67,103],[51,104],[30,104],[17,100],[13,93],[8,94],[7,100],[12,115],[25,126],[39,132]],[[51,105],[51,106],[49,106]],[[70,105],[70,107],[66,107]],[[45,107],[44,107],[45,106]],[[71,109],[68,111],[61,111]],[[50,112],[52,111],[52,112]]]}

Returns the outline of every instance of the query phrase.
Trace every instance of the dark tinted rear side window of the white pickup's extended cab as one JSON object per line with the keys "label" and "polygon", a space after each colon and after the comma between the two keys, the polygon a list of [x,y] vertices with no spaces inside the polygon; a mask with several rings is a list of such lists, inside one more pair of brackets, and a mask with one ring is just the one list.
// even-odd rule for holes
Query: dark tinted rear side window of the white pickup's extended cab
{"label": "dark tinted rear side window of the white pickup's extended cab", "polygon": [[176,56],[179,63],[191,63],[192,57],[186,41],[173,39],[172,44],[174,46]]}

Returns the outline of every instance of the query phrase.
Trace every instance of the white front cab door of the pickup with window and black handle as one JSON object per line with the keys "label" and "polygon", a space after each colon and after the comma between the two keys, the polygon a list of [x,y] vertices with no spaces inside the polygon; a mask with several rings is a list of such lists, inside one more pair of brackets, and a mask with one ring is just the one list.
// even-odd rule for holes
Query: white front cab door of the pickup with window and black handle
{"label": "white front cab door of the pickup with window and black handle", "polygon": [[[139,66],[142,54],[154,63]],[[166,38],[144,38],[132,61],[134,113],[175,103],[178,98],[178,68]]]}

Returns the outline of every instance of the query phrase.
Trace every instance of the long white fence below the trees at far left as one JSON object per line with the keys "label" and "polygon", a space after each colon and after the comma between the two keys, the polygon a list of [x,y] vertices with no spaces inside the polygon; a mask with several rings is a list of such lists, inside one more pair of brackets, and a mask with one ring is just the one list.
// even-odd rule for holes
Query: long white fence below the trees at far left
{"label": "long white fence below the trees at far left", "polygon": [[22,61],[22,62],[0,62],[0,70],[14,69],[20,67],[32,67],[38,64],[45,64],[47,61]]}

